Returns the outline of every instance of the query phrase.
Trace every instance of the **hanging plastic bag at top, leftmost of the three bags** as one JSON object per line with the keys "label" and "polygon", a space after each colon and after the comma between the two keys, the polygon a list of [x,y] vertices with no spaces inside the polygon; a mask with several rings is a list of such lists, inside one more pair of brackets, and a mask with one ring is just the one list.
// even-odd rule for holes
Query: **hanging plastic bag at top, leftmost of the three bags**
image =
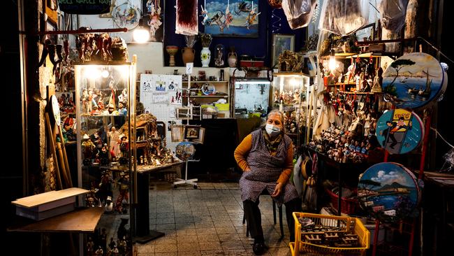
{"label": "hanging plastic bag at top, leftmost of the three bags", "polygon": [[314,15],[316,0],[283,0],[282,9],[291,29],[306,27]]}

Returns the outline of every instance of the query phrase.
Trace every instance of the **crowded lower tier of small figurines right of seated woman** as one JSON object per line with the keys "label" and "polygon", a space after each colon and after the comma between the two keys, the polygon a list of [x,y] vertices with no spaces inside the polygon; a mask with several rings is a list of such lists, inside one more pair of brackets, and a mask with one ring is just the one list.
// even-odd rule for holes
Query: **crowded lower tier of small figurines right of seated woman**
{"label": "crowded lower tier of small figurines right of seated woman", "polygon": [[[374,159],[380,158],[374,155],[380,152],[375,150],[379,147],[376,137],[372,134],[369,134],[369,136],[358,135],[342,129],[342,127],[332,125],[327,130],[322,131],[320,137],[310,141],[307,148],[325,155],[335,162],[361,164],[374,162]],[[372,159],[369,159],[371,155],[373,155]]]}

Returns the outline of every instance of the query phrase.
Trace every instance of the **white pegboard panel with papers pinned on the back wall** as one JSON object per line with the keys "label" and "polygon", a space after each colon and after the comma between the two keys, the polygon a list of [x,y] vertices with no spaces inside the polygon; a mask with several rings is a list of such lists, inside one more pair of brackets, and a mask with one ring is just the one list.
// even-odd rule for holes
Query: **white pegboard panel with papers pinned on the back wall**
{"label": "white pegboard panel with papers pinned on the back wall", "polygon": [[182,124],[175,117],[175,108],[182,106],[182,76],[140,74],[140,102],[145,113],[166,123],[167,148],[175,152],[178,142],[172,142],[169,122]]}

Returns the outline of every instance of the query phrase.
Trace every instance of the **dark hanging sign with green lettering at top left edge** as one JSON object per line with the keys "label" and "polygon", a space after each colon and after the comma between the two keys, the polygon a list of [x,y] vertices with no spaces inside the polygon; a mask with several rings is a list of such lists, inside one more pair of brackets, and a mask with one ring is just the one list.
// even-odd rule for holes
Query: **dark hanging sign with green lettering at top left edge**
{"label": "dark hanging sign with green lettering at top left edge", "polygon": [[101,14],[110,12],[111,0],[59,0],[58,3],[60,10],[64,13]]}

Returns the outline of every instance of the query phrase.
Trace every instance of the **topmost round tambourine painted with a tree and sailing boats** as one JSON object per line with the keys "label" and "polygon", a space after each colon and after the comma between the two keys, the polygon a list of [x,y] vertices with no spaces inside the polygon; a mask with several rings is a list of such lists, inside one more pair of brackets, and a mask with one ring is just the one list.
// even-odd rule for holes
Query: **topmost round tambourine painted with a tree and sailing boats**
{"label": "topmost round tambourine painted with a tree and sailing boats", "polygon": [[439,99],[447,85],[448,75],[437,59],[413,52],[388,66],[381,86],[397,108],[420,108]]}

